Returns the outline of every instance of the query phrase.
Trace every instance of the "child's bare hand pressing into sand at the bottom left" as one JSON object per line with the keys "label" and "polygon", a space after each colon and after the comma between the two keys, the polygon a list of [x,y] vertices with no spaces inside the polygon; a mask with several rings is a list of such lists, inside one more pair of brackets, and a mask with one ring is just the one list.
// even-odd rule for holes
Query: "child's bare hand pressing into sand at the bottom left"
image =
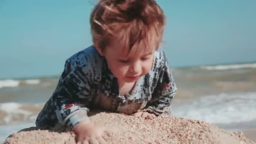
{"label": "child's bare hand pressing into sand at the bottom left", "polygon": [[101,136],[104,131],[104,128],[97,127],[89,119],[81,121],[74,128],[77,144],[105,144]]}

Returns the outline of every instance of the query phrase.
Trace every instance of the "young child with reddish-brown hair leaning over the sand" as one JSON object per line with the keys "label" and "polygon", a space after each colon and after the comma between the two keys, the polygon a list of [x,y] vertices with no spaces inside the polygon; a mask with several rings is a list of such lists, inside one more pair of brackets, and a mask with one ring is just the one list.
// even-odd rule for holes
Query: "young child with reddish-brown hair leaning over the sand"
{"label": "young child with reddish-brown hair leaning over the sand", "polygon": [[154,0],[99,0],[90,23],[93,46],[67,59],[37,127],[59,123],[73,128],[79,142],[102,142],[89,109],[144,117],[170,114],[176,85],[164,52],[157,50],[165,24],[159,5]]}

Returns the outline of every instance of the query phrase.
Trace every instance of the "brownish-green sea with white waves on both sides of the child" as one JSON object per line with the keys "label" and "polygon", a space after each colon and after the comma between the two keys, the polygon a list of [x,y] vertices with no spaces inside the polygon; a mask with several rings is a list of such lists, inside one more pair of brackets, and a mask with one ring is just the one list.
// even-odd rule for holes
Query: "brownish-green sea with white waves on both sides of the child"
{"label": "brownish-green sea with white waves on both sides of the child", "polygon": [[[178,91],[173,115],[230,131],[256,129],[256,63],[172,68]],[[0,143],[35,126],[59,76],[0,80]]]}

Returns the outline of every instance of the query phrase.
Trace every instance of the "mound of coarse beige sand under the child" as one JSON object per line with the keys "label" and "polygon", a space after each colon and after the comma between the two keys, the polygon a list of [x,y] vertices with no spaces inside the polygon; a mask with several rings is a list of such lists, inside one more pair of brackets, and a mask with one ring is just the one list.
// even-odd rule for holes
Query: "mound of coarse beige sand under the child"
{"label": "mound of coarse beige sand under the child", "polygon": [[[103,134],[107,144],[256,144],[242,132],[229,132],[198,120],[158,116],[153,120],[101,112],[90,117],[111,131]],[[71,131],[24,129],[9,136],[4,144],[75,144]]]}

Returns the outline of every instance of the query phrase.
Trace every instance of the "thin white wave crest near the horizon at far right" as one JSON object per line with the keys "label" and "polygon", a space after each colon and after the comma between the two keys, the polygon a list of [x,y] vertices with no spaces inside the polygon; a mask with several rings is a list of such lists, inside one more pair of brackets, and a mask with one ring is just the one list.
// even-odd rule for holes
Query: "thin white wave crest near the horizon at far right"
{"label": "thin white wave crest near the horizon at far right", "polygon": [[256,68],[254,64],[231,64],[231,65],[217,65],[217,66],[203,66],[201,69],[207,70],[227,70],[227,69],[243,69],[243,68]]}

